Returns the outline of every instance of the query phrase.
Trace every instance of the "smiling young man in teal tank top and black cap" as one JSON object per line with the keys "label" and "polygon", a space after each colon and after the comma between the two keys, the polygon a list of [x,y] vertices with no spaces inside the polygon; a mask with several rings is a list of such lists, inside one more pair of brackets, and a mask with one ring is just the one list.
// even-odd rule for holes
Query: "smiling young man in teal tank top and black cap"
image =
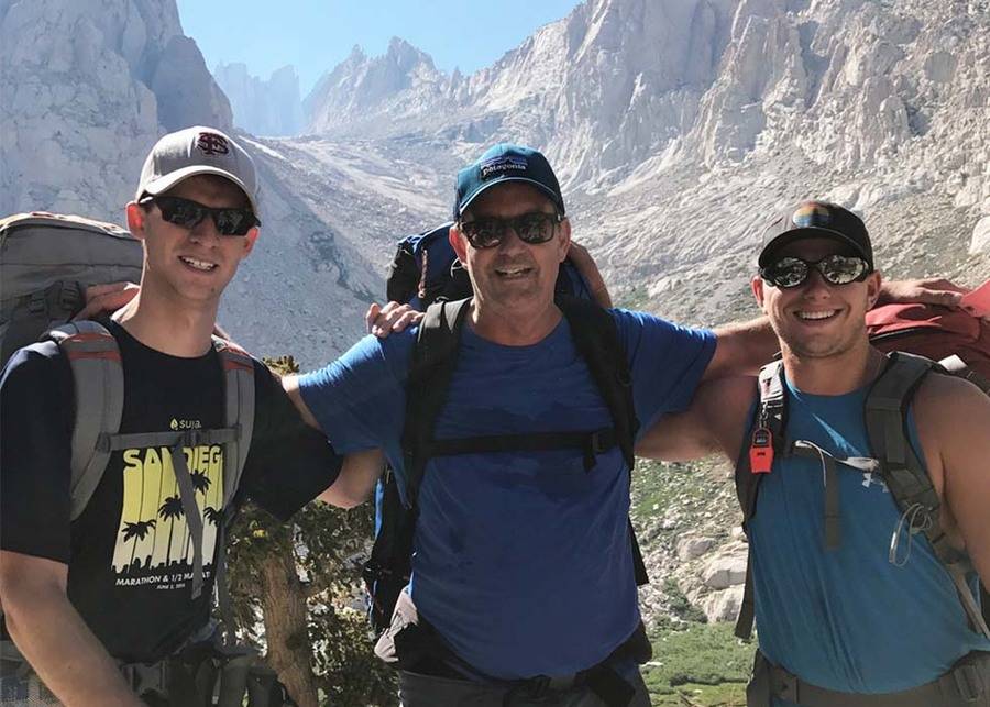
{"label": "smiling young man in teal tank top and black cap", "polygon": [[[750,707],[990,705],[990,638],[967,619],[926,535],[909,541],[910,513],[880,475],[857,468],[871,456],[865,401],[890,365],[866,331],[881,283],[866,227],[835,205],[801,203],[768,228],[759,265],[752,291],[780,341],[784,439],[812,453],[771,457],[747,523],[760,642]],[[757,390],[752,378],[702,385],[637,452],[737,459],[750,446]],[[905,430],[950,546],[968,553],[985,585],[988,430],[990,398],[946,375],[923,379]],[[839,460],[831,477],[829,457]],[[829,479],[837,521],[823,512]],[[968,579],[976,588],[977,576]]]}

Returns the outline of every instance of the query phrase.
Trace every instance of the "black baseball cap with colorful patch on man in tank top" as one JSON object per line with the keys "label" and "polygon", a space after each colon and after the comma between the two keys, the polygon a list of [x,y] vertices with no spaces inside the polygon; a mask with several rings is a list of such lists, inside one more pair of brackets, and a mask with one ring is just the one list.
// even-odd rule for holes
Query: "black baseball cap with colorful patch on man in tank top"
{"label": "black baseball cap with colorful patch on man in tank top", "polygon": [[828,201],[802,201],[778,216],[763,231],[759,266],[769,265],[788,243],[815,237],[848,245],[873,269],[873,246],[862,219]]}

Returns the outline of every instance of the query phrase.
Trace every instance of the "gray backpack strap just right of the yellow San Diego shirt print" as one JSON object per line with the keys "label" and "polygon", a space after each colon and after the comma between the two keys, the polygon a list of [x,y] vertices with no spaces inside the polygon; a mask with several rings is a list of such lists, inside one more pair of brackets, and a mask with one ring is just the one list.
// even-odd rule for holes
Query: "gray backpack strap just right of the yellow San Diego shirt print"
{"label": "gray backpack strap just right of the yellow San Diego shirt print", "polygon": [[234,438],[227,443],[224,452],[226,510],[238,490],[254,431],[254,361],[246,351],[219,336],[213,336],[213,349],[223,368],[223,424],[234,430]]}

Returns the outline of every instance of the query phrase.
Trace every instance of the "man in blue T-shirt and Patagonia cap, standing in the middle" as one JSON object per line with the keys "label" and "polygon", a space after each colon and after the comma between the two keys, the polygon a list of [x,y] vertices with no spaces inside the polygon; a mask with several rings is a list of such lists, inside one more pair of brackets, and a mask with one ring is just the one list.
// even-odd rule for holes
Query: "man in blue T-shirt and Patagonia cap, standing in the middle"
{"label": "man in blue T-shirt and Patagonia cap, standing in the middle", "polygon": [[[608,408],[553,299],[571,227],[546,158],[515,145],[493,147],[459,174],[454,217],[450,239],[474,299],[436,438],[607,424]],[[716,333],[639,312],[612,317],[642,429],[684,409],[702,378],[729,366],[754,371],[771,353],[766,324]],[[370,336],[326,368],[286,382],[338,450],[383,449],[400,483],[408,472],[400,438],[415,343],[415,331]],[[431,665],[429,675],[404,671],[406,707],[529,704],[541,676],[553,681],[556,702],[540,704],[607,704],[580,674],[608,660],[640,623],[629,473],[615,448],[598,454],[590,472],[576,449],[429,462],[413,581],[399,610],[415,601],[458,660]],[[354,502],[373,480],[354,484]],[[636,688],[628,704],[648,705],[631,661],[612,662]]]}

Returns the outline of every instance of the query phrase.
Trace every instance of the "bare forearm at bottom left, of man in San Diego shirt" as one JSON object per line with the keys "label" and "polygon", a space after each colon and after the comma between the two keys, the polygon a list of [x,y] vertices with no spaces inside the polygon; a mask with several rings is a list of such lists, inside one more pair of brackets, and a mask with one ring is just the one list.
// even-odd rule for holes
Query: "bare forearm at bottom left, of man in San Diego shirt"
{"label": "bare forearm at bottom left, of man in San Diego shirt", "polygon": [[117,663],[69,603],[68,567],[0,550],[7,629],[41,680],[67,707],[140,707]]}

